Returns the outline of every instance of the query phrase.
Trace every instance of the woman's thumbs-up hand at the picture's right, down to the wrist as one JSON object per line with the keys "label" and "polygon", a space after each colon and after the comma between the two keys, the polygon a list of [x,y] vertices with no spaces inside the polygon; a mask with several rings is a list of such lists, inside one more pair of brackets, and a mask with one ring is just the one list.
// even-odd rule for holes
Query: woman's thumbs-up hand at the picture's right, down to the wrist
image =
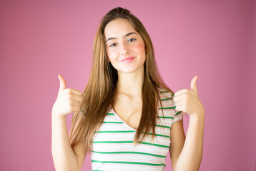
{"label": "woman's thumbs-up hand at the picture's right, down to the wrist", "polygon": [[174,103],[177,111],[192,115],[205,115],[205,108],[202,105],[197,92],[197,78],[194,76],[191,81],[190,90],[182,89],[174,93]]}

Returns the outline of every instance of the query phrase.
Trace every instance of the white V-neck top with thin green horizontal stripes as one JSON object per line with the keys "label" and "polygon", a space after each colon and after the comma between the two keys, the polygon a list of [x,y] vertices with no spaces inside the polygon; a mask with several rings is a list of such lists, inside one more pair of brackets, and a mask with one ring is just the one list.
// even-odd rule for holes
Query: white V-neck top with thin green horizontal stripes
{"label": "white V-neck top with thin green horizontal stripes", "polygon": [[170,128],[187,114],[175,110],[173,95],[160,92],[164,113],[159,108],[155,128],[157,137],[153,142],[152,135],[149,135],[141,144],[134,145],[136,130],[124,123],[113,109],[109,110],[92,138],[92,170],[163,170],[169,151]]}

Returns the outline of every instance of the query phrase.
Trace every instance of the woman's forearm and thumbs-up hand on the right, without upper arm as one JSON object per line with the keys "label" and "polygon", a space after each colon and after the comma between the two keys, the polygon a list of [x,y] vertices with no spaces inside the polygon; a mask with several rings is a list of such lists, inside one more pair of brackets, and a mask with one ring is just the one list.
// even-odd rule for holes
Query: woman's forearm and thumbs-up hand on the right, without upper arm
{"label": "woman's forearm and thumbs-up hand on the right, without upper arm", "polygon": [[175,171],[199,170],[202,161],[205,108],[198,97],[197,78],[192,78],[190,90],[182,89],[174,93],[176,110],[190,115],[186,139],[177,158]]}

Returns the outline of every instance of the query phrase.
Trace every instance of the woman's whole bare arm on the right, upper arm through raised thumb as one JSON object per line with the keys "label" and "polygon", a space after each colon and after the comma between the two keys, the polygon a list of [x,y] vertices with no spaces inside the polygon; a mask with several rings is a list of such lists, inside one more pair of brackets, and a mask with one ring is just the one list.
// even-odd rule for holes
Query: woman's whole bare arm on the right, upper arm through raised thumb
{"label": "woman's whole bare arm on the right, upper arm through raised thumb", "polygon": [[205,108],[198,95],[197,78],[198,76],[192,78],[190,89],[182,89],[174,93],[176,110],[190,116],[186,138],[181,131],[182,122],[174,123],[171,128],[170,156],[174,170],[199,170],[202,161]]}

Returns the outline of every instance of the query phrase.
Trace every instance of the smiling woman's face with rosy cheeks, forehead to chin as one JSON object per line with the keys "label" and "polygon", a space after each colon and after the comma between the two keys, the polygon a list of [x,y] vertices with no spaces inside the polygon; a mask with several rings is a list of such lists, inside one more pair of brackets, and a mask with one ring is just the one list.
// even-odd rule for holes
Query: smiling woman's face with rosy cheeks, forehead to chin
{"label": "smiling woman's face with rosy cheeks, forehead to chin", "polygon": [[146,60],[144,41],[127,19],[110,21],[104,34],[107,56],[118,72],[143,71]]}

